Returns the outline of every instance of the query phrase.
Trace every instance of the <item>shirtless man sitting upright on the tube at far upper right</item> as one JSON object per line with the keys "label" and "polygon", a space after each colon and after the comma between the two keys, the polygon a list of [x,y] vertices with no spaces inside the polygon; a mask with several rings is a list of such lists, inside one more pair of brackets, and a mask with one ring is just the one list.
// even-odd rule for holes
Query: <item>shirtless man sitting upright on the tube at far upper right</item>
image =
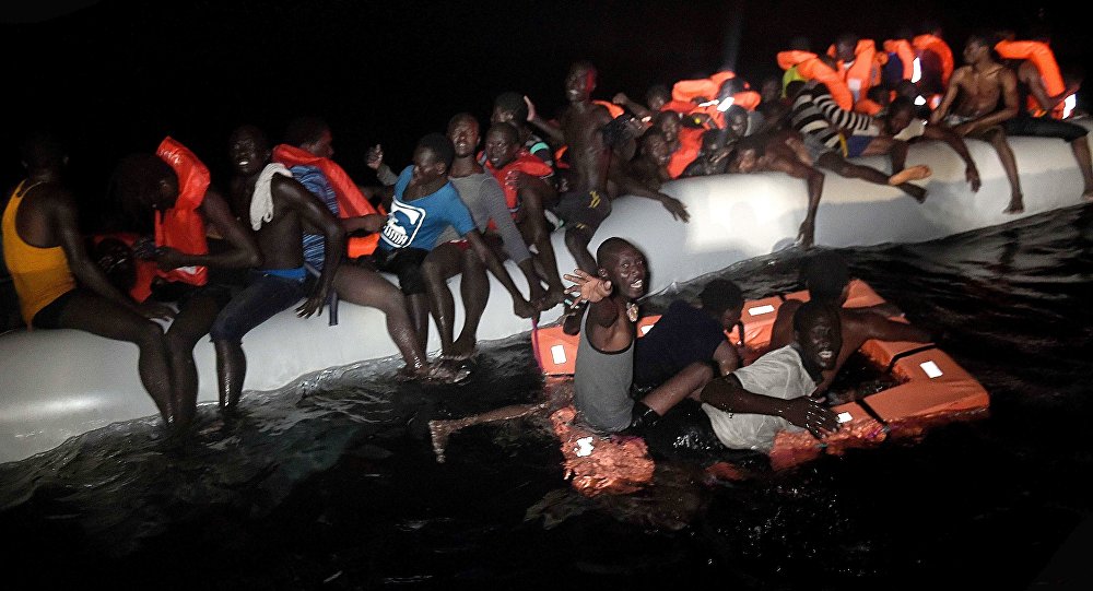
{"label": "shirtless man sitting upright on the tube at far upper right", "polygon": [[994,44],[986,35],[975,34],[964,44],[966,66],[957,68],[949,80],[941,104],[930,115],[930,123],[945,123],[963,138],[990,142],[1010,180],[1010,203],[1004,213],[1024,211],[1021,180],[1013,150],[1002,125],[1016,117],[1018,76],[996,61]]}

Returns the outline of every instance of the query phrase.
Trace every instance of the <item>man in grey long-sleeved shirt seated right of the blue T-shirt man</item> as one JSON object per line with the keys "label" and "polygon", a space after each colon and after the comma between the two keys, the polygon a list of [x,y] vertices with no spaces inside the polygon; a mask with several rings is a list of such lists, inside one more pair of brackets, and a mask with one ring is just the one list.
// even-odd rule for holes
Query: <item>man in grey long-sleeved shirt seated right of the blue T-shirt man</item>
{"label": "man in grey long-sleeved shirt seated right of the blue T-shirt man", "polygon": [[[519,292],[510,295],[518,315],[531,314],[532,309],[538,309],[538,306],[543,304],[545,292],[539,283],[531,252],[528,251],[524,236],[517,229],[505,204],[505,193],[501,185],[474,158],[480,141],[478,120],[468,113],[457,114],[448,121],[448,139],[455,147],[455,159],[448,170],[448,178],[470,211],[475,227],[483,233],[483,237],[493,241],[493,238],[500,235],[503,249],[500,249],[498,259],[512,259],[524,272],[530,286],[528,299],[525,299]],[[496,226],[496,232],[486,234],[491,222]],[[451,226],[448,226],[437,238],[436,246],[422,261],[422,273],[425,276],[433,320],[440,333],[442,357],[450,360],[472,357],[477,351],[479,321],[490,297],[490,280],[486,276],[485,262],[474,249],[469,248],[468,243],[461,239]],[[459,338],[453,341],[455,300],[447,280],[459,273],[462,273],[459,288],[463,303],[463,327]],[[502,283],[515,287],[508,271],[504,273],[508,281]]]}

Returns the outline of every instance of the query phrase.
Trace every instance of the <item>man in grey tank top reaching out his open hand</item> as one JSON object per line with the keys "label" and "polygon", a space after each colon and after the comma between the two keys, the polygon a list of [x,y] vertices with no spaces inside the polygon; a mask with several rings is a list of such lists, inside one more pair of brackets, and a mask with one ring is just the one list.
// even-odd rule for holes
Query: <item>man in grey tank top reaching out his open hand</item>
{"label": "man in grey tank top reaching out his open hand", "polygon": [[597,249],[598,269],[565,279],[567,292],[585,303],[574,369],[574,405],[581,421],[603,433],[640,433],[681,400],[696,395],[714,378],[708,363],[695,362],[635,401],[635,302],[646,292],[645,256],[631,243],[611,237]]}

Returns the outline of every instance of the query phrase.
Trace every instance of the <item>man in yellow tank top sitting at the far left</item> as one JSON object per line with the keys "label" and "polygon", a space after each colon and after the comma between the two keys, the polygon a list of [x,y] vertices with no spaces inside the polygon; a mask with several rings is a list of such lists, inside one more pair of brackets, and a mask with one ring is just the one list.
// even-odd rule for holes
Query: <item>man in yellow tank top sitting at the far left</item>
{"label": "man in yellow tank top sitting at the far left", "polygon": [[136,344],[141,383],[164,424],[173,425],[177,395],[167,343],[150,320],[169,318],[171,310],[137,305],[87,256],[75,199],[61,182],[68,162],[61,144],[34,133],[21,153],[27,178],[11,194],[0,233],[23,319],[32,330],[77,329]]}

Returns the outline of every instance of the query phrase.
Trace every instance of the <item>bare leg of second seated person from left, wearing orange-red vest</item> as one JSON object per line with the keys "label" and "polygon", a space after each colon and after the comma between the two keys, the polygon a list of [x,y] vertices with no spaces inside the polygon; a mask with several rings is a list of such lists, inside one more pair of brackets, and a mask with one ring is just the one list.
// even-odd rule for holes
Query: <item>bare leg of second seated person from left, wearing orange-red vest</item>
{"label": "bare leg of second seated person from left, wearing orange-red vest", "polygon": [[198,404],[198,369],[193,346],[209,333],[220,312],[221,303],[210,295],[195,295],[186,302],[167,329],[171,376],[175,381],[175,424],[185,427],[193,421]]}

